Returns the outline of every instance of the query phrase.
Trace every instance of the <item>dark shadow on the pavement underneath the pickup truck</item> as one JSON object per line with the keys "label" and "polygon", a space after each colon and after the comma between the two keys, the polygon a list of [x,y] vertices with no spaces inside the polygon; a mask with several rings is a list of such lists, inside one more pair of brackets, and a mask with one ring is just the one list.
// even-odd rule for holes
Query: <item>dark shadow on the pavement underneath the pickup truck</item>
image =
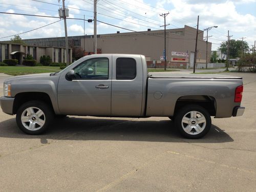
{"label": "dark shadow on the pavement underneath the pickup truck", "polygon": [[233,139],[212,125],[209,133],[196,140],[180,136],[171,120],[154,121],[148,119],[124,120],[120,118],[82,118],[71,116],[55,119],[49,130],[42,135],[26,135],[16,125],[15,118],[0,122],[0,137],[3,138],[38,138],[41,143],[54,140],[120,140],[149,142],[190,142],[190,143],[223,143]]}

